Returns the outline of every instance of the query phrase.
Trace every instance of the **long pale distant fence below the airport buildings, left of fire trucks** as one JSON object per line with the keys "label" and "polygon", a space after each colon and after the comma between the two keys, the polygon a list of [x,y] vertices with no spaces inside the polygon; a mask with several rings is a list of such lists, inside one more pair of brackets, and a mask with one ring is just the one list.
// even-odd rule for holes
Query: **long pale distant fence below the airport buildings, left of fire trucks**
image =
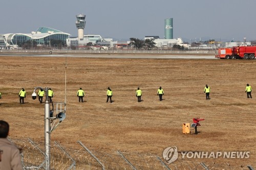
{"label": "long pale distant fence below the airport buildings, left of fire trucks", "polygon": [[173,50],[0,50],[1,53],[91,53],[91,54],[214,54],[215,50],[191,50],[191,51],[173,51]]}

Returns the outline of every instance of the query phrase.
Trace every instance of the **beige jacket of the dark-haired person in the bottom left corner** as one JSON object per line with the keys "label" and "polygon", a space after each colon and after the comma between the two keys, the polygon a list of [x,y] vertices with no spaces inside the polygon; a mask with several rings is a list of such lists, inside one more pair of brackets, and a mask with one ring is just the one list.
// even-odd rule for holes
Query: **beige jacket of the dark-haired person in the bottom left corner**
{"label": "beige jacket of the dark-haired person in the bottom left corner", "polygon": [[0,170],[22,170],[22,161],[20,160],[21,148],[7,138],[0,138]]}

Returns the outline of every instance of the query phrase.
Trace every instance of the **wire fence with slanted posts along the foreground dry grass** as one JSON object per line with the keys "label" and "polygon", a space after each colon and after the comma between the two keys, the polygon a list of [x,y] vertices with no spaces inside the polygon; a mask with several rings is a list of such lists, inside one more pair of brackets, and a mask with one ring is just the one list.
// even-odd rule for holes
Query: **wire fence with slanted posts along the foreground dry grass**
{"label": "wire fence with slanted posts along the foreground dry grass", "polygon": [[[32,139],[10,139],[23,148],[22,164],[26,170],[45,169],[44,142],[34,142]],[[78,147],[79,146],[79,147]],[[81,141],[77,141],[76,148],[66,148],[58,142],[51,142],[51,170],[57,169],[133,169],[133,170],[207,170],[207,169],[234,169],[228,163],[193,162],[177,159],[166,164],[162,156],[142,154],[128,151],[110,151],[109,153],[87,148]]]}

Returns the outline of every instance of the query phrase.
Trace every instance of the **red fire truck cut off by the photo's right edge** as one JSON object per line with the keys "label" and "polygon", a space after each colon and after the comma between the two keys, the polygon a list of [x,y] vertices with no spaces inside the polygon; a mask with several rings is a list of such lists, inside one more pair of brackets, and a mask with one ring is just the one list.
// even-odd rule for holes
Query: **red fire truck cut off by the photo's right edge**
{"label": "red fire truck cut off by the photo's right edge", "polygon": [[234,58],[254,59],[256,55],[256,46],[234,46],[232,47]]}

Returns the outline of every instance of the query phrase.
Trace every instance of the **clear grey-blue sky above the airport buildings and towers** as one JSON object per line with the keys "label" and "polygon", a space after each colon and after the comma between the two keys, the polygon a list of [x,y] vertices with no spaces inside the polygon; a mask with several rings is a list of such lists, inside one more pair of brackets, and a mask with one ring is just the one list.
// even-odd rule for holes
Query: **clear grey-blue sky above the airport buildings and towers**
{"label": "clear grey-blue sky above the airport buildings and towers", "polygon": [[174,19],[174,38],[256,40],[255,0],[45,0],[2,1],[0,34],[50,27],[77,36],[75,15],[86,15],[84,34],[116,39],[164,37]]}

